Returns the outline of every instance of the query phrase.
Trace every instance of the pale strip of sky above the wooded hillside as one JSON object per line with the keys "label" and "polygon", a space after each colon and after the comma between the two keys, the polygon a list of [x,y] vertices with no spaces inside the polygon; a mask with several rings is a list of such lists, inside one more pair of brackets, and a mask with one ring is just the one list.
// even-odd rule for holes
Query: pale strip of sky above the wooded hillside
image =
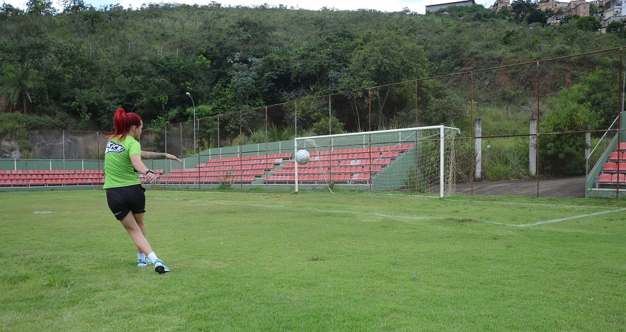
{"label": "pale strip of sky above the wooded hillside", "polygon": [[[14,7],[26,8],[27,0],[0,0]],[[51,0],[53,6],[61,9],[58,0]],[[100,8],[104,5],[119,3],[124,8],[141,8],[144,3],[187,3],[193,5],[207,5],[211,0],[84,0],[88,5]],[[436,3],[446,3],[458,0],[214,0],[221,3],[222,6],[260,6],[264,3],[270,7],[278,7],[278,5],[286,6],[294,9],[320,10],[321,8],[335,8],[336,10],[358,10],[373,9],[380,12],[399,12],[403,8],[408,8],[415,13],[424,14],[426,5]],[[489,8],[495,0],[476,0],[477,4]]]}

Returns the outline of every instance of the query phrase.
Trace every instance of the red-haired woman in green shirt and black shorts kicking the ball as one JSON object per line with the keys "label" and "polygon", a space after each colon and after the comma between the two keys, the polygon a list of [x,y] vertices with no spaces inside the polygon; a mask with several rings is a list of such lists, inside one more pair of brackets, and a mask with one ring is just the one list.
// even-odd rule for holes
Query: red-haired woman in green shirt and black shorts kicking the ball
{"label": "red-haired woman in green shirt and black shorts kicking the ball", "polygon": [[[157,273],[170,272],[157,255],[152,251],[145,238],[145,189],[141,186],[138,174],[143,174],[147,183],[157,181],[158,175],[145,167],[141,158],[172,159],[182,161],[170,153],[141,151],[139,136],[143,122],[135,113],[126,113],[118,108],[113,115],[115,133],[109,135],[104,151],[104,189],[106,201],[113,215],[122,222],[126,231],[137,246],[137,266],[143,267],[154,263]],[[147,257],[146,257],[146,254]]]}

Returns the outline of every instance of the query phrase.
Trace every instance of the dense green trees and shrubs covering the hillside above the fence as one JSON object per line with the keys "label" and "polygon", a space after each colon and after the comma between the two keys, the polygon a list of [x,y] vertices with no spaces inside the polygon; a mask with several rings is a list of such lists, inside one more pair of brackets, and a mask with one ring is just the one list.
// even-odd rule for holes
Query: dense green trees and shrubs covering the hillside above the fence
{"label": "dense green trees and shrubs covering the hillside above the fence", "polygon": [[[22,113],[51,118],[43,126],[109,130],[112,110],[123,106],[154,126],[191,118],[185,92],[206,117],[623,44],[619,26],[600,34],[572,18],[543,27],[533,23],[532,7],[517,5],[500,15],[482,6],[417,15],[215,2],[124,9],[74,0],[61,13],[43,0],[25,10],[3,4],[0,117]],[[420,102],[432,121],[448,119],[437,113],[443,105],[465,103],[438,96],[434,83],[428,88]]]}

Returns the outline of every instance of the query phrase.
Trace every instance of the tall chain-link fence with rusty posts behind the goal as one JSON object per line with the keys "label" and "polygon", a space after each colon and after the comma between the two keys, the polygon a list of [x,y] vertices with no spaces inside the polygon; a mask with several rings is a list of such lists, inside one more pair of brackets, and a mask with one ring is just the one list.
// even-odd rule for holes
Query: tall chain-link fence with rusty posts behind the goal
{"label": "tall chain-link fence with rusty posts behind the goal", "polygon": [[[620,185],[626,185],[619,168],[626,155],[618,149],[626,141],[620,134],[623,49],[501,64],[147,128],[141,144],[184,158],[184,165],[150,160],[164,174],[186,172],[176,179],[188,181],[165,185],[284,188],[266,180],[291,159],[294,137],[444,124],[460,128],[458,193],[618,197]],[[0,169],[79,170],[85,162],[101,169],[105,136],[35,133],[33,158],[2,159]],[[259,156],[275,163],[249,181],[245,172],[252,164],[246,158]],[[208,163],[215,160],[230,167],[230,180],[202,181],[212,179]]]}

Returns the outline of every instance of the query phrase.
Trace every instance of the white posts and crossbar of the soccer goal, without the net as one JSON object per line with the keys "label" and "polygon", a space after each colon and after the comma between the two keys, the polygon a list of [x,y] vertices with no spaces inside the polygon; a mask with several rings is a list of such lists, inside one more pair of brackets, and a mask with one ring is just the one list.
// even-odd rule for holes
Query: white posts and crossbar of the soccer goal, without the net
{"label": "white posts and crossbar of the soccer goal, without the net", "polygon": [[[448,142],[446,142],[446,133],[449,132],[456,132],[456,133],[460,133],[460,130],[458,128],[453,128],[453,127],[447,127],[447,126],[422,126],[422,127],[412,127],[412,128],[400,128],[400,129],[390,129],[390,130],[385,130],[385,131],[365,131],[365,132],[359,132],[359,133],[342,133],[342,134],[335,134],[335,135],[318,135],[318,136],[307,136],[307,137],[296,137],[294,138],[294,156],[296,155],[296,151],[298,151],[298,149],[302,149],[302,145],[305,144],[305,141],[313,141],[316,142],[316,140],[318,142],[330,142],[330,144],[327,146],[329,148],[330,151],[333,150],[332,147],[332,142],[335,138],[346,138],[346,137],[351,137],[351,136],[362,136],[363,137],[363,144],[367,145],[369,144],[369,146],[371,146],[371,135],[379,135],[379,134],[386,134],[386,133],[399,133],[399,135],[401,135],[402,132],[411,132],[414,131],[417,136],[417,133],[422,133],[423,131],[433,131],[433,130],[438,130],[439,131],[439,161],[440,161],[440,165],[439,165],[439,196],[440,197],[444,197],[444,181],[445,181],[445,176],[446,176],[446,169],[445,169],[445,163],[449,162],[450,160],[446,159],[446,144]],[[435,134],[436,135],[436,134]],[[451,135],[454,138],[454,135]],[[365,141],[365,138],[368,138],[369,142]],[[300,145],[300,146],[299,146]],[[416,147],[417,149],[417,147]],[[454,149],[454,147],[452,147],[452,149]],[[311,151],[310,151],[311,152]],[[451,156],[449,156],[449,158],[453,158],[454,159],[454,152],[451,153]],[[448,158],[448,159],[449,159]],[[296,192],[298,192],[299,187],[300,187],[300,181],[299,181],[299,176],[298,176],[298,163],[294,162],[294,168],[295,168],[295,190]],[[452,160],[452,165],[454,165],[454,160]],[[300,166],[303,167],[303,166]],[[454,172],[454,170],[449,170],[449,173]],[[454,176],[454,174],[452,175]],[[371,185],[371,182],[370,182]]]}

